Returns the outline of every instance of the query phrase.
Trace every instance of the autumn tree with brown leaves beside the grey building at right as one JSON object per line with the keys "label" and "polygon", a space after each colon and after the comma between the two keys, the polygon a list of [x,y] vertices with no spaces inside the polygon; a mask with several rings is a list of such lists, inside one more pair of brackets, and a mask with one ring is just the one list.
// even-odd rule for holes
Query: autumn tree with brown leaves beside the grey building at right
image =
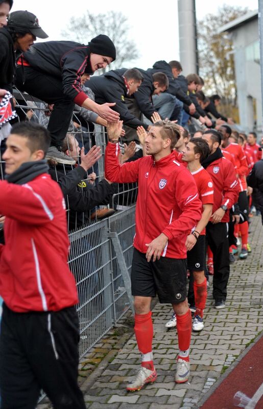
{"label": "autumn tree with brown leaves beside the grey building at right", "polygon": [[217,30],[248,12],[248,8],[223,5],[217,14],[207,14],[198,21],[199,74],[205,81],[205,90],[222,96],[222,113],[236,105],[233,44],[228,33]]}

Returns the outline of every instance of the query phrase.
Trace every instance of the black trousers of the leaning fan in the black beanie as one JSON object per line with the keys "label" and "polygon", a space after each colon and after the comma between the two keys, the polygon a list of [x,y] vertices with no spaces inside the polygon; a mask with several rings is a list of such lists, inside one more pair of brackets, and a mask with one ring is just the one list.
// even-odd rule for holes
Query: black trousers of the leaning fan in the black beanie
{"label": "black trousers of the leaning fan in the black beanie", "polygon": [[51,146],[62,146],[75,102],[63,93],[61,78],[36,71],[29,66],[23,69],[18,66],[15,85],[20,91],[26,91],[47,104],[54,104],[47,129],[51,133]]}

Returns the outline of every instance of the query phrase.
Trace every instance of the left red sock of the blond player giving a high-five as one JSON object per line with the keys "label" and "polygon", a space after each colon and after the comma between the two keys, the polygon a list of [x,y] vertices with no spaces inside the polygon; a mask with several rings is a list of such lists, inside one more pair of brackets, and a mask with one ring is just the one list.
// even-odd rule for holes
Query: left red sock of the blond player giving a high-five
{"label": "left red sock of the blond player giving a high-five", "polygon": [[[148,314],[135,314],[134,332],[137,340],[138,349],[141,354],[145,355],[152,352],[153,341],[153,322],[152,311]],[[141,366],[151,371],[154,370],[153,360],[142,361]]]}

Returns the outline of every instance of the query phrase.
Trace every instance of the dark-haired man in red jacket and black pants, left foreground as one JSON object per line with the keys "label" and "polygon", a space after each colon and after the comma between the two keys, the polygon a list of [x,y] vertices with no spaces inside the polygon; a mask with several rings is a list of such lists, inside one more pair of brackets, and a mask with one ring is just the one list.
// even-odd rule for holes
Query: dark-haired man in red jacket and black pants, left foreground
{"label": "dark-haired man in red jacket and black pants, left foreground", "polygon": [[1,408],[35,409],[40,388],[55,408],[84,409],[78,387],[76,283],[68,269],[65,201],[47,174],[49,132],[16,124],[7,138],[0,213]]}

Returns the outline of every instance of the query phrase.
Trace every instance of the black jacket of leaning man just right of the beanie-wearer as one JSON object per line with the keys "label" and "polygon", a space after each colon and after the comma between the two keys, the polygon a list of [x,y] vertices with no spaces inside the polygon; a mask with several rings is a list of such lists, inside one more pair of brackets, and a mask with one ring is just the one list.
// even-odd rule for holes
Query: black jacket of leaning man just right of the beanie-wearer
{"label": "black jacket of leaning man just right of the beanie-wearer", "polygon": [[147,129],[148,125],[134,117],[125,104],[127,89],[122,75],[119,70],[109,71],[104,75],[91,77],[85,85],[92,89],[95,94],[95,102],[98,104],[104,104],[105,102],[116,103],[112,109],[119,113],[124,125],[134,129],[141,125]]}

